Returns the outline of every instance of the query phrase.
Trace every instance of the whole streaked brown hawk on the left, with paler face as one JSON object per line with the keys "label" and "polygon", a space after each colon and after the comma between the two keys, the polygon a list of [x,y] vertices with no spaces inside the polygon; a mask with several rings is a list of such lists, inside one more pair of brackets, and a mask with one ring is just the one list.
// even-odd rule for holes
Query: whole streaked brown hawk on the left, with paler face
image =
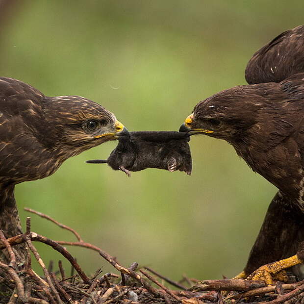
{"label": "whole streaked brown hawk on the left, with paler face", "polygon": [[[47,97],[22,81],[0,77],[0,229],[5,236],[22,233],[16,184],[48,177],[69,157],[126,133],[114,114],[94,101]],[[22,263],[25,247],[18,246]]]}

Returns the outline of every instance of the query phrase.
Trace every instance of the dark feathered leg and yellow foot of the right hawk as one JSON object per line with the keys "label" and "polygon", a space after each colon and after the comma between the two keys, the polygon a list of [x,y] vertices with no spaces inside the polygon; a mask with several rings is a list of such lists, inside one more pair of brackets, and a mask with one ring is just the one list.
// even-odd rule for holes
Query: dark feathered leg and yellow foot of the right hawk
{"label": "dark feathered leg and yellow foot of the right hawk", "polygon": [[[237,277],[264,280],[267,285],[271,285],[273,279],[286,279],[282,270],[303,262],[303,211],[293,208],[298,207],[288,201],[287,195],[280,192],[276,194],[267,210],[247,265]],[[301,277],[298,267],[293,267],[292,271]]]}

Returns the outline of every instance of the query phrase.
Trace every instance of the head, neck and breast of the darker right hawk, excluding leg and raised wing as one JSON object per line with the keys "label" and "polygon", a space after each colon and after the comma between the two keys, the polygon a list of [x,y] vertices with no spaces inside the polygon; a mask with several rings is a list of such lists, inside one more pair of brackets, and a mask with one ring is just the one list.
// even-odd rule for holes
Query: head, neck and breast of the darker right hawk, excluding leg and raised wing
{"label": "head, neck and breast of the darker right hawk, excluding leg and raised wing", "polygon": [[304,73],[279,83],[237,86],[199,102],[179,130],[226,140],[253,171],[283,192],[298,191],[303,89]]}

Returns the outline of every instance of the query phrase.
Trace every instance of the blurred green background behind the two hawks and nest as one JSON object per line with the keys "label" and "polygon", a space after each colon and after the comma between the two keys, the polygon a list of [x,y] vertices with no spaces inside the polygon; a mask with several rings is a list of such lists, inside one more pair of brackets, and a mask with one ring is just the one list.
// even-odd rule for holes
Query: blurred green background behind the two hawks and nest
{"label": "blurred green background behind the two hawks and nest", "polygon": [[[48,96],[97,101],[129,130],[177,130],[198,101],[245,84],[253,52],[304,16],[303,0],[9,2],[0,20],[0,75]],[[39,210],[123,265],[137,261],[176,280],[239,273],[275,187],[226,142],[207,136],[191,138],[191,177],[148,169],[127,178],[85,163],[106,158],[116,144],[18,185],[23,224],[23,207]],[[74,240],[35,215],[32,230]],[[36,245],[46,262],[60,258]],[[87,273],[113,271],[96,252],[69,250]]]}

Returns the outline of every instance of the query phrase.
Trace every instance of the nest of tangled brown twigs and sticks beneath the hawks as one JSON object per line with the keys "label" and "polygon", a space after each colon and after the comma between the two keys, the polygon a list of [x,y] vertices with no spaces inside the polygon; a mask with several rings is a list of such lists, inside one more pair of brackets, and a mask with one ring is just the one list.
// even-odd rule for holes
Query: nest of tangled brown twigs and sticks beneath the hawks
{"label": "nest of tangled brown twigs and sticks beneath the hawks", "polygon": [[[74,304],[108,304],[108,303],[166,303],[166,304],[201,304],[201,303],[304,303],[304,281],[292,284],[277,283],[266,287],[262,281],[244,279],[204,280],[183,278],[174,282],[148,267],[136,271],[134,262],[129,268],[120,265],[110,254],[100,248],[85,243],[72,228],[58,223],[48,215],[25,208],[25,210],[50,220],[61,228],[73,232],[77,242],[53,241],[36,232],[30,231],[30,218],[26,221],[26,232],[6,239],[0,230],[0,249],[6,249],[10,256],[9,264],[0,262],[0,303],[74,303]],[[52,265],[47,268],[32,241],[51,246],[61,253],[72,265],[77,274],[66,277],[61,261],[58,271],[53,272]],[[27,244],[28,261],[18,270],[13,245]],[[107,273],[101,276],[101,270],[89,278],[81,269],[76,259],[62,245],[80,246],[97,251],[109,262],[120,275]],[[30,253],[33,253],[44,276],[38,276],[31,267]],[[157,281],[159,277],[178,290],[171,290]],[[182,283],[186,282],[190,288]],[[151,285],[154,286],[152,286]],[[194,285],[194,286],[192,286]],[[156,288],[157,287],[157,288]],[[159,287],[159,288],[158,288]]]}

